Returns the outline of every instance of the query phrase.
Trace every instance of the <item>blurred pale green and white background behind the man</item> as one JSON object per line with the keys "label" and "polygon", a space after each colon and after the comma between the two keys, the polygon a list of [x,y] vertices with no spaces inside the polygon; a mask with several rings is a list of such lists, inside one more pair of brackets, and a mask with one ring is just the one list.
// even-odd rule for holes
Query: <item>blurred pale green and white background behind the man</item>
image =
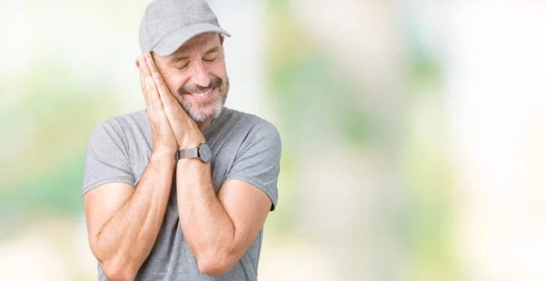
{"label": "blurred pale green and white background behind the man", "polygon": [[[148,3],[0,2],[0,279],[96,279],[86,141],[144,109]],[[545,279],[545,4],[209,4],[282,135],[260,280]]]}

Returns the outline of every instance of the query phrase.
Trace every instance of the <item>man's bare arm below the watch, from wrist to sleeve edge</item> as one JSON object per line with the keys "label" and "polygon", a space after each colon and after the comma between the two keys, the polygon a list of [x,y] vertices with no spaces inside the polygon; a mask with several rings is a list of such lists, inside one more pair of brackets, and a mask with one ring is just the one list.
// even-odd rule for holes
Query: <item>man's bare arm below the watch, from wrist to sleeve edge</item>
{"label": "man's bare arm below the watch, from wrist to sleeve edge", "polygon": [[223,183],[216,197],[210,163],[178,160],[176,169],[178,213],[199,270],[210,276],[223,275],[243,257],[257,237],[271,199],[243,180]]}

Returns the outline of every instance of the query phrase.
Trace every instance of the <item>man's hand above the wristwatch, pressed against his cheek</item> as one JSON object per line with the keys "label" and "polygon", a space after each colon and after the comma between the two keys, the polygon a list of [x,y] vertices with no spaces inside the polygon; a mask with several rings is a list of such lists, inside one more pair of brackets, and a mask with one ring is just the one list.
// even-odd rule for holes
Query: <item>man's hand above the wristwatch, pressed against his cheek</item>
{"label": "man's hand above the wristwatch, pressed against his cheek", "polygon": [[153,80],[150,82],[152,92],[158,93],[163,105],[163,111],[170,123],[176,140],[177,149],[189,149],[199,146],[204,141],[203,133],[199,130],[197,124],[183,111],[182,106],[172,93],[168,90],[163,76],[157,70],[154,60],[150,53],[144,55],[145,65],[141,65],[142,72],[146,81],[148,77]]}

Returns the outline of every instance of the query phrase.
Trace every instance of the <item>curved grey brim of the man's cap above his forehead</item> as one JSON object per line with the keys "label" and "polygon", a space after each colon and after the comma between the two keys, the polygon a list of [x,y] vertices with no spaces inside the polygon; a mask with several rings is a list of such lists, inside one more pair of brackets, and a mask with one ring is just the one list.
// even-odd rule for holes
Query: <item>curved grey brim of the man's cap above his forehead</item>
{"label": "curved grey brim of the man's cap above his forehead", "polygon": [[185,26],[182,29],[178,29],[172,34],[169,34],[168,36],[163,38],[163,40],[161,40],[158,44],[154,46],[152,51],[159,54],[160,56],[171,55],[176,52],[176,50],[178,50],[181,45],[189,41],[194,36],[209,33],[223,34],[227,37],[231,37],[231,34],[224,31],[221,27],[217,25],[192,24],[189,26]]}

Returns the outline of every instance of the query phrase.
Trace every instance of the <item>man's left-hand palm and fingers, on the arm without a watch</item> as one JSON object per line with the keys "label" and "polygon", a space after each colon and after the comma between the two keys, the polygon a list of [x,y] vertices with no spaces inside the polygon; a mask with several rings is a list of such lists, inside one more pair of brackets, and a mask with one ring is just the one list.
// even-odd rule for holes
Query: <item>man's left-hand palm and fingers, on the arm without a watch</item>
{"label": "man's left-hand palm and fingers, on the arm without a watch", "polygon": [[174,154],[178,145],[171,125],[166,117],[163,102],[155,86],[144,56],[139,56],[136,65],[140,70],[140,87],[144,93],[145,106],[152,126],[154,152]]}

